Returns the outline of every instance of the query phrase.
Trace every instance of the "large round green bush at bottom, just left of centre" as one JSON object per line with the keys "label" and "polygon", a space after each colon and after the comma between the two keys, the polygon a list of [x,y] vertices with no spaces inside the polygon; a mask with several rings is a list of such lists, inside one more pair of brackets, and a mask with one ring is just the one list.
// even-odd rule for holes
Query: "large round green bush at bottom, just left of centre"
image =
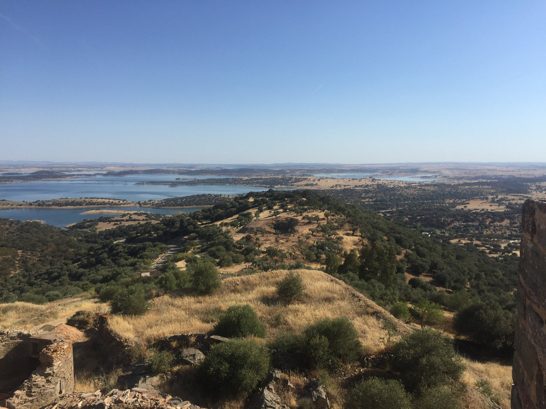
{"label": "large round green bush at bottom, just left of centre", "polygon": [[230,340],[213,347],[200,369],[210,393],[245,396],[268,375],[269,352],[256,341]]}

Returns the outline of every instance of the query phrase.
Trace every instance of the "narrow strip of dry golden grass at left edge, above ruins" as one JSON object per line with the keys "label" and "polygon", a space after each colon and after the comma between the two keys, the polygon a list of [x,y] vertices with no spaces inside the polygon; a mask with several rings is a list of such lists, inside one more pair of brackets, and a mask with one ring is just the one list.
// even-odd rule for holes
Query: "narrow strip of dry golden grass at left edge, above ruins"
{"label": "narrow strip of dry golden grass at left edge, above ruins", "polygon": [[108,311],[108,305],[80,297],[52,301],[44,305],[20,301],[0,304],[0,326],[31,329],[49,322],[60,324],[80,310],[104,313]]}

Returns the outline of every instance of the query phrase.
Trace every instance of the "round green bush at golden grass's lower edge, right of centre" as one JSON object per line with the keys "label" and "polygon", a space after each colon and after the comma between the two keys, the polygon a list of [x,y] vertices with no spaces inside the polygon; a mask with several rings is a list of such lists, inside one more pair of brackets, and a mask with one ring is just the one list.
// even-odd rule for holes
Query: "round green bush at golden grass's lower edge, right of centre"
{"label": "round green bush at golden grass's lower edge, right of centre", "polygon": [[337,367],[356,360],[361,351],[357,330],[346,317],[324,318],[308,325],[304,343],[313,367]]}

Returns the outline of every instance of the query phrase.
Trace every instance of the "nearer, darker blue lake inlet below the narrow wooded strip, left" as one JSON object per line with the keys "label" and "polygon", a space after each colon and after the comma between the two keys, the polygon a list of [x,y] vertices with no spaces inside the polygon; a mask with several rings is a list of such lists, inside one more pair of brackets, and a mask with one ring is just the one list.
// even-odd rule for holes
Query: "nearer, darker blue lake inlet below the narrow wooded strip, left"
{"label": "nearer, darker blue lake inlet below the narrow wooded strip, left", "polygon": [[[92,213],[84,214],[84,212],[96,209],[96,207],[80,208],[80,209],[0,209],[0,218],[14,220],[42,220],[47,224],[57,227],[64,227],[68,224],[77,223],[84,219],[98,219],[100,217],[114,217],[119,214],[115,213]],[[200,208],[191,209],[151,209],[147,207],[109,207],[102,210],[122,210],[127,212],[142,211],[159,214],[176,214],[176,212],[195,212]]]}

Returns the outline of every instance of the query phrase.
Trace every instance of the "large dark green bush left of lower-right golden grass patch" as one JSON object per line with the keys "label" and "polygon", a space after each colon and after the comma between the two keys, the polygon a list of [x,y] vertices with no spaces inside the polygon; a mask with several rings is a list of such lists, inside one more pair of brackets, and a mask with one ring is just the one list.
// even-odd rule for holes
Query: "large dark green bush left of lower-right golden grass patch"
{"label": "large dark green bush left of lower-right golden grass patch", "polygon": [[452,342],[431,329],[414,331],[395,344],[391,367],[400,373],[410,392],[454,383],[460,379],[464,365]]}

